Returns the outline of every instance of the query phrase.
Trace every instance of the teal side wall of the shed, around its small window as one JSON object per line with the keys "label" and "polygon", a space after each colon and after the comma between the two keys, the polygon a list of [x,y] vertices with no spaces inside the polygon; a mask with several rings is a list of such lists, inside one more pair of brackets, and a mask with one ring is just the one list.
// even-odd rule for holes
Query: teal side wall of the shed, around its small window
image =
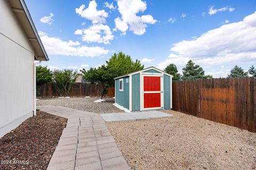
{"label": "teal side wall of the shed, around its small window", "polygon": [[115,80],[115,100],[116,103],[124,108],[129,109],[129,81],[126,82],[126,79],[129,80],[129,77],[121,78],[123,79],[123,91],[119,91],[119,79]]}

